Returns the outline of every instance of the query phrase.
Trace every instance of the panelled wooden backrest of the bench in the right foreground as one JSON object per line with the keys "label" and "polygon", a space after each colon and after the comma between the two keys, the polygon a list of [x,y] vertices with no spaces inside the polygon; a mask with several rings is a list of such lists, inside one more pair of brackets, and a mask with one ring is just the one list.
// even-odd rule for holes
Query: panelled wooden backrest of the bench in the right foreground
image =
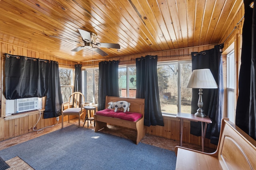
{"label": "panelled wooden backrest of the bench in the right foreground", "polygon": [[256,141],[228,118],[222,119],[216,152],[224,169],[225,167],[230,170],[256,168]]}

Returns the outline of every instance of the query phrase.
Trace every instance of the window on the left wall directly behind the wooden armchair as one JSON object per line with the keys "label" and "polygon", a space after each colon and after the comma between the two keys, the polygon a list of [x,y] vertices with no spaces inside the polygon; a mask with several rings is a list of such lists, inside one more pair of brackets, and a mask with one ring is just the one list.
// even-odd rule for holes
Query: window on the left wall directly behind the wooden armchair
{"label": "window on the left wall directly behind the wooden armchair", "polygon": [[63,102],[68,102],[69,96],[73,92],[73,69],[59,68],[60,88]]}

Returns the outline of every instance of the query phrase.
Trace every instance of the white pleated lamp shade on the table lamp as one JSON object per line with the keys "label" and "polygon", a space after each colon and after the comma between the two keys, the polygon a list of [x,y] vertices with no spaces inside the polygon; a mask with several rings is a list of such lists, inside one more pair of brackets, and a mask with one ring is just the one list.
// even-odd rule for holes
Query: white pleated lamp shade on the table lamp
{"label": "white pleated lamp shade on the table lamp", "polygon": [[210,69],[193,70],[187,88],[218,88]]}

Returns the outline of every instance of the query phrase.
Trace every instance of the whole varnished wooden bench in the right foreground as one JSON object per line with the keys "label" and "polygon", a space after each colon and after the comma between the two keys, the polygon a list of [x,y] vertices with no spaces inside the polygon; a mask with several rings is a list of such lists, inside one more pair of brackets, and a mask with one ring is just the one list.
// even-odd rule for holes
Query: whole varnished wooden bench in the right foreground
{"label": "whole varnished wooden bench in the right foreground", "polygon": [[252,170],[256,169],[256,141],[234,125],[222,119],[220,139],[215,152],[175,147],[176,170]]}

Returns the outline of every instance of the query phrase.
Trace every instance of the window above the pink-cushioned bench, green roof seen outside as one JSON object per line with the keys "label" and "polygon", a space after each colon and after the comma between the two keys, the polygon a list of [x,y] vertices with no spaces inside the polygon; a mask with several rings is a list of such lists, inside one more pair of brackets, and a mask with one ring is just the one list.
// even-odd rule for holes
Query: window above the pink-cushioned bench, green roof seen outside
{"label": "window above the pink-cushioned bench, green roof seen outside", "polygon": [[118,68],[118,85],[120,97],[136,97],[136,66],[126,66]]}

